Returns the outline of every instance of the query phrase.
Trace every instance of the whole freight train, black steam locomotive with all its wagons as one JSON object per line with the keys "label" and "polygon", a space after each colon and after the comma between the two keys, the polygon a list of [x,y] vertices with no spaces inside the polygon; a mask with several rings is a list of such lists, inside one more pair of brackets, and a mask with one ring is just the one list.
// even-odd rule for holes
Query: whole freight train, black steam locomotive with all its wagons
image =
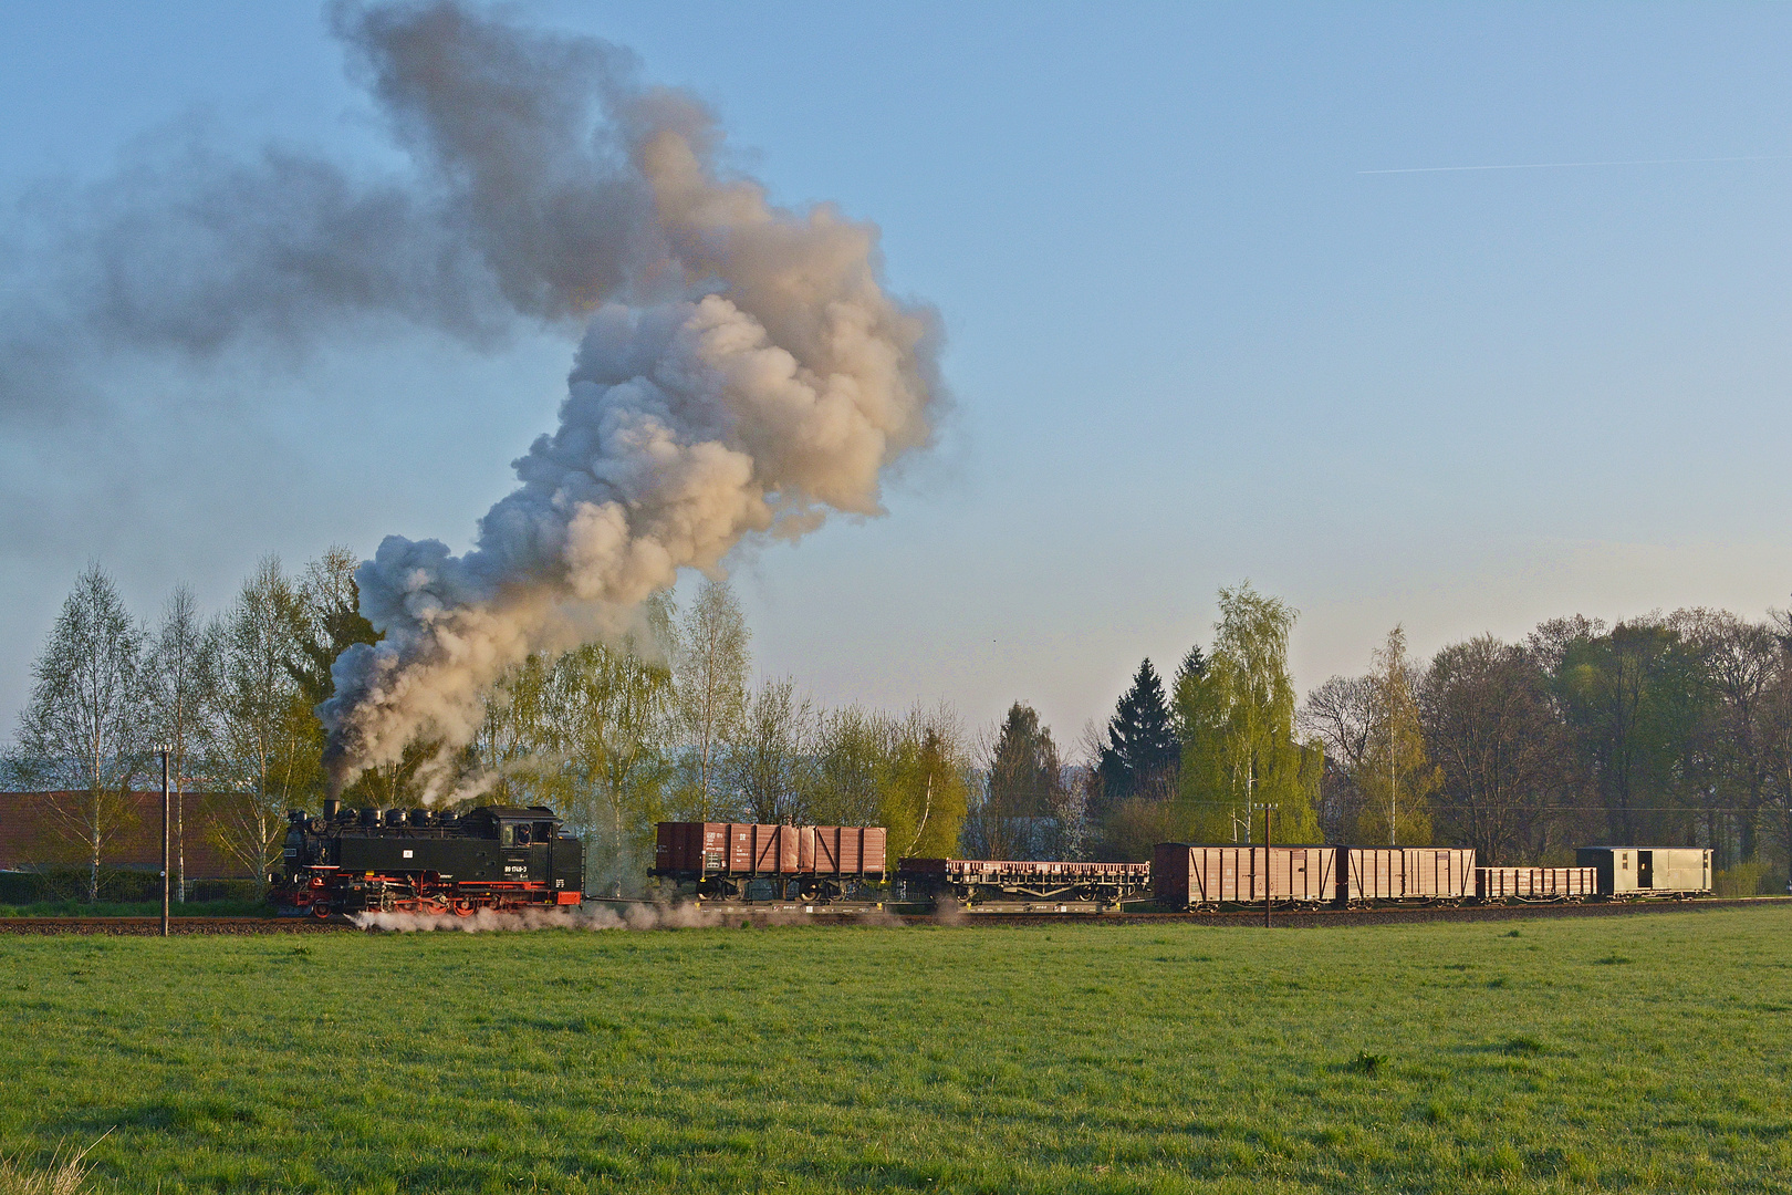
{"label": "whole freight train, black steam locomotive with all its wagons", "polygon": [[[946,903],[969,908],[1165,910],[1640,899],[1711,890],[1702,847],[1581,847],[1575,867],[1484,867],[1464,847],[1161,842],[1150,864],[903,858],[882,826],[659,822],[649,871],[659,899],[808,907]],[[289,815],[285,916],[471,916],[579,905],[584,849],[545,806],[344,810]]]}

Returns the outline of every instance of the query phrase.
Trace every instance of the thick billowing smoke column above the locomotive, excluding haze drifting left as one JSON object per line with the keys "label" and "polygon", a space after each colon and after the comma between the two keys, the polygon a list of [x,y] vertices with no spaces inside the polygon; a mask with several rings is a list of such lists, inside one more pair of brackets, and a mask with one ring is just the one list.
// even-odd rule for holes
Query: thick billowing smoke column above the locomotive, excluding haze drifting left
{"label": "thick billowing smoke column above the locomotive, excluding haze drifting left", "polygon": [[[491,305],[582,326],[559,426],[473,550],[392,536],[357,572],[383,638],[337,659],[319,709],[342,783],[466,744],[505,668],[625,629],[681,568],[878,514],[941,387],[935,319],[883,292],[876,229],[772,206],[724,170],[713,113],[622,50],[452,2],[333,23],[425,186],[376,204],[378,278],[332,285],[470,333]],[[464,299],[432,296],[462,276]]]}

